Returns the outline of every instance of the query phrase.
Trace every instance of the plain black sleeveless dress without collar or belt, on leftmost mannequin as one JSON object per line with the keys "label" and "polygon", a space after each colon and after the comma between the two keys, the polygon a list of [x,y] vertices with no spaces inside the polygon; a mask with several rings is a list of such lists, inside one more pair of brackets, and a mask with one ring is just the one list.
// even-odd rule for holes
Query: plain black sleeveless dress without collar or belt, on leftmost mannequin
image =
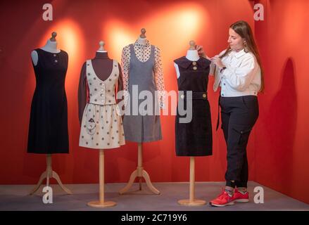
{"label": "plain black sleeveless dress without collar or belt, on leftmost mannequin", "polygon": [[35,49],[39,56],[33,65],[36,87],[31,104],[27,143],[28,153],[68,153],[68,104],[65,75],[68,53]]}

